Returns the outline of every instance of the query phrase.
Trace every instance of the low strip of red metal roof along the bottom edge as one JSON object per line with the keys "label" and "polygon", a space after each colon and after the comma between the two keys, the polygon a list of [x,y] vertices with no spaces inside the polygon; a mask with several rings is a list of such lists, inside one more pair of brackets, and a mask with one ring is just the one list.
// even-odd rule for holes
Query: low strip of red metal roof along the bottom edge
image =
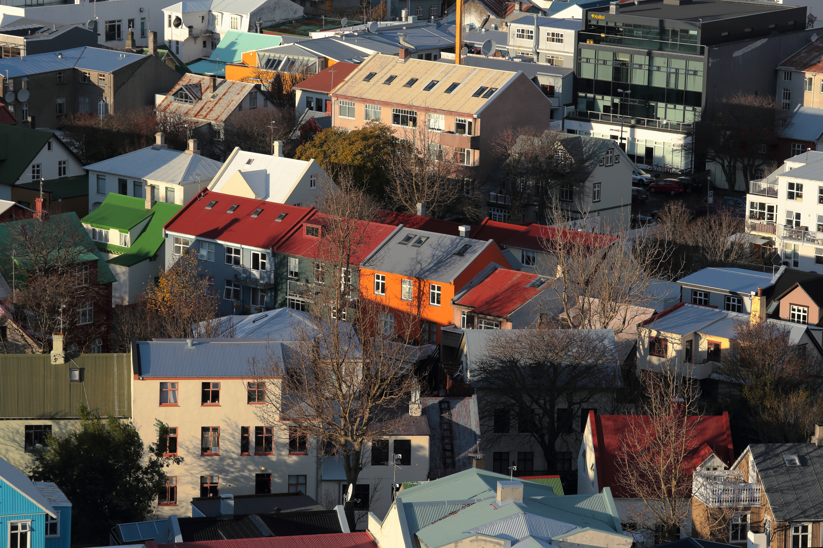
{"label": "low strip of red metal roof along the bottom edge", "polygon": [[337,532],[325,535],[265,536],[227,541],[146,541],[146,548],[379,548],[368,532]]}

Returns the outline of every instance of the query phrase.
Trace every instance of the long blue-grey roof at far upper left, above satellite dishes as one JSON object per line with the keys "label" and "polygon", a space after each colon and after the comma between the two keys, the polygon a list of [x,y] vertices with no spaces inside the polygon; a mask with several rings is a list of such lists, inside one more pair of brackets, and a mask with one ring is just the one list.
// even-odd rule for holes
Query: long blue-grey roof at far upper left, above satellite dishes
{"label": "long blue-grey roof at far upper left, above satellite dishes", "polygon": [[[59,57],[61,55],[62,57]],[[113,49],[74,48],[62,52],[37,53],[24,57],[0,59],[0,73],[5,75],[8,71],[8,76],[15,78],[41,72],[65,71],[70,68],[114,72],[145,58],[145,55],[123,53]]]}

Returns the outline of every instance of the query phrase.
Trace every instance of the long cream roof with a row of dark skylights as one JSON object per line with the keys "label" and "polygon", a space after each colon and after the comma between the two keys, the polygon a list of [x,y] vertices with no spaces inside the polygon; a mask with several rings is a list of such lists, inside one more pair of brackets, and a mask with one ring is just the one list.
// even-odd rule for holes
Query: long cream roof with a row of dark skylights
{"label": "long cream roof with a row of dark skylights", "polygon": [[[371,81],[364,81],[366,75],[376,72]],[[416,108],[444,110],[455,113],[478,114],[487,103],[500,95],[505,85],[514,81],[521,73],[495,71],[490,68],[449,65],[436,61],[408,58],[399,62],[395,55],[375,53],[353,71],[346,81],[332,91],[334,96],[365,99],[389,104],[408,105]],[[388,76],[397,76],[391,84],[383,82]],[[416,78],[410,87],[407,82]],[[432,80],[439,84],[430,91],[423,88]],[[444,91],[453,82],[460,85],[452,93]],[[497,88],[489,99],[472,97],[481,86]]]}

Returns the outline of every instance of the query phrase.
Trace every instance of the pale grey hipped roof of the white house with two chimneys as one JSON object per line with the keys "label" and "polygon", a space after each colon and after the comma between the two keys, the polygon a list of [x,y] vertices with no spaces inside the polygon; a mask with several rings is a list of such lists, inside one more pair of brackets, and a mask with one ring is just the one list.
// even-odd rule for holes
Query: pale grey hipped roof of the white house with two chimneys
{"label": "pale grey hipped roof of the white house with two chimneys", "polygon": [[211,179],[223,163],[200,154],[186,154],[182,150],[147,146],[87,165],[89,171],[114,173],[123,177],[182,184],[198,179]]}

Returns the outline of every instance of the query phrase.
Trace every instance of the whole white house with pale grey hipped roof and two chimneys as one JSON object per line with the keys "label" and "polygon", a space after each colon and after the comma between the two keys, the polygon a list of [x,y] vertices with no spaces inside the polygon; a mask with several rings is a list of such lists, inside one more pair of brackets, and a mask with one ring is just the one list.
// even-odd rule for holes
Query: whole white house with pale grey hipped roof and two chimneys
{"label": "whole white house with pale grey hipped roof and two chimneys", "polygon": [[151,185],[155,201],[184,205],[207,187],[221,163],[204,158],[198,141],[188,140],[188,150],[170,150],[165,136],[157,134],[155,145],[86,166],[89,171],[89,210],[103,203],[109,192],[146,198]]}

